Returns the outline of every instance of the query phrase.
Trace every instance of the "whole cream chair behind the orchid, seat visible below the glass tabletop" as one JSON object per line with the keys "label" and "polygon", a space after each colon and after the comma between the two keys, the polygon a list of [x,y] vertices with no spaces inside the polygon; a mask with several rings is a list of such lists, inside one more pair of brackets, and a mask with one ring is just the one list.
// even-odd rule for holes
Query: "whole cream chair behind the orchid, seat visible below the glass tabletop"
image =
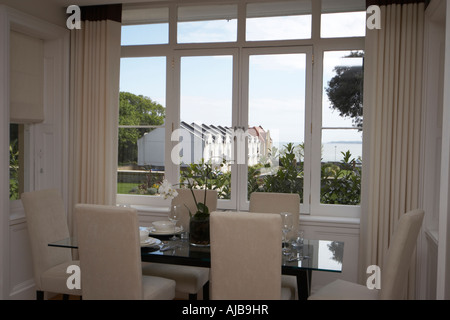
{"label": "whole cream chair behind the orchid, seat visible below the glass tabletop", "polygon": [[[204,201],[204,190],[193,190],[198,202]],[[189,231],[189,210],[194,214],[196,206],[190,189],[177,189],[178,196],[172,200],[172,205],[180,205],[182,214],[179,225]],[[210,212],[217,208],[217,191],[207,190],[206,204]],[[189,210],[188,210],[189,208]],[[203,298],[209,296],[209,269],[192,266],[179,266],[161,263],[145,263],[143,274],[173,279],[177,283],[176,291],[187,293],[190,300],[197,299],[198,292],[203,288]]]}

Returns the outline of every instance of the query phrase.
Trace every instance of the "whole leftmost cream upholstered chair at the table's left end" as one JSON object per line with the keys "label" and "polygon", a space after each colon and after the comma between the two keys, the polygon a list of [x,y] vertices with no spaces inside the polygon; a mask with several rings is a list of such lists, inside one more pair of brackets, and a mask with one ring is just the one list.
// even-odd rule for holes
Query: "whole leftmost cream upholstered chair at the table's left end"
{"label": "whole leftmost cream upholstered chair at the table's left end", "polygon": [[79,265],[72,260],[72,252],[66,248],[49,247],[50,242],[68,238],[64,202],[55,189],[25,192],[21,195],[27,218],[28,236],[33,257],[36,298],[44,299],[44,292],[81,295],[80,289],[67,287],[66,272],[70,265]]}

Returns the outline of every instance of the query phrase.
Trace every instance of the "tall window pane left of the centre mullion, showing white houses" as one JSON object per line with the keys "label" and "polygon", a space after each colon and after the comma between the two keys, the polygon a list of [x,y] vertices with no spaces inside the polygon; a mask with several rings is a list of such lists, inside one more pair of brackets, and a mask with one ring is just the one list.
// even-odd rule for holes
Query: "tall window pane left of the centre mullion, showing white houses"
{"label": "tall window pane left of the centre mullion, showing white houses", "polygon": [[204,169],[212,165],[208,188],[220,199],[231,197],[232,89],[232,56],[182,57],[181,177],[192,174],[203,186]]}

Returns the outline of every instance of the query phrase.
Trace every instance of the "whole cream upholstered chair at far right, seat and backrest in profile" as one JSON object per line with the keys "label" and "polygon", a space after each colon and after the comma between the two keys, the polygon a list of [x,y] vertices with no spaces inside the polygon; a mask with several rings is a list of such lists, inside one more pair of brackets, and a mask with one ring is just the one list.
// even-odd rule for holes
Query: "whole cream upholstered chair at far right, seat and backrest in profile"
{"label": "whole cream upholstered chair at far right, seat and backrest in profile", "polygon": [[310,300],[401,300],[404,298],[408,269],[422,226],[423,210],[401,216],[381,268],[381,288],[368,289],[344,280],[335,280],[309,297]]}

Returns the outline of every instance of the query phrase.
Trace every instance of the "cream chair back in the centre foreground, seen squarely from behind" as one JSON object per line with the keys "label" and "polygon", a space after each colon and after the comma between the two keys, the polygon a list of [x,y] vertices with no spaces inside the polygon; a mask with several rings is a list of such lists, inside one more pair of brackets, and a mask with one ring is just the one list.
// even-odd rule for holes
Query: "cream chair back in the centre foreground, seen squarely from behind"
{"label": "cream chair back in the centre foreground, seen squarely from behind", "polygon": [[210,216],[211,298],[281,298],[281,216],[213,212]]}

